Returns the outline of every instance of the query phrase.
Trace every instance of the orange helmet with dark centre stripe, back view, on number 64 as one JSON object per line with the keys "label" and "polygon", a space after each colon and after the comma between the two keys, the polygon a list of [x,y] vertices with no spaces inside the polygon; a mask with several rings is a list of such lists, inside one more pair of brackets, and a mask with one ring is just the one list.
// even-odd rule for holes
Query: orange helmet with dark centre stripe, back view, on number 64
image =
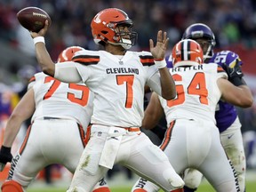
{"label": "orange helmet with dark centre stripe, back view, on number 64", "polygon": [[204,61],[200,44],[192,39],[181,40],[172,49],[173,67],[199,65]]}

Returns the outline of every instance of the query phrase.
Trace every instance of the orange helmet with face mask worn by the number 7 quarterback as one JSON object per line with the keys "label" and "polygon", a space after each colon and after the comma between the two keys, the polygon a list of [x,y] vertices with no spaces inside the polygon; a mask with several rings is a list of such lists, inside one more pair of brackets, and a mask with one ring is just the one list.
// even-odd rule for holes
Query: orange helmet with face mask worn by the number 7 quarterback
{"label": "orange helmet with face mask worn by the number 7 quarterback", "polygon": [[[128,27],[128,30],[120,29],[120,26]],[[91,22],[92,36],[96,44],[109,43],[122,45],[124,49],[130,49],[135,44],[137,33],[132,32],[132,20],[128,15],[116,8],[108,8],[99,12]]]}

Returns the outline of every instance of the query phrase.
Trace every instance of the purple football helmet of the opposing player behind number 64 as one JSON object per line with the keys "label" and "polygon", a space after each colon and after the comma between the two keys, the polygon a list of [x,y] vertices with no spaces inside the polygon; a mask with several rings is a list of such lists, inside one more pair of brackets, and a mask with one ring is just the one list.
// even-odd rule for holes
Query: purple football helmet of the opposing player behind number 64
{"label": "purple football helmet of the opposing player behind number 64", "polygon": [[216,44],[215,36],[212,33],[212,29],[206,26],[203,23],[195,23],[188,26],[188,28],[183,33],[182,39],[193,39],[204,38],[208,40],[208,49],[207,52],[204,52],[204,60],[212,58],[213,47]]}

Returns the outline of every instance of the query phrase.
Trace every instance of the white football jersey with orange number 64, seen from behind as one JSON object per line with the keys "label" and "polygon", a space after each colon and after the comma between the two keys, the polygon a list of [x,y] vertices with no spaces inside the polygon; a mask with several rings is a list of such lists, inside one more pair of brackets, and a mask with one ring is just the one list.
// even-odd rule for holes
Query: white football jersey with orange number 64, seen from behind
{"label": "white football jersey with orange number 64, seen from behind", "polygon": [[174,100],[159,97],[167,124],[175,119],[202,119],[216,124],[215,108],[221,93],[217,79],[227,78],[226,72],[217,64],[204,64],[186,68],[170,68],[176,84]]}

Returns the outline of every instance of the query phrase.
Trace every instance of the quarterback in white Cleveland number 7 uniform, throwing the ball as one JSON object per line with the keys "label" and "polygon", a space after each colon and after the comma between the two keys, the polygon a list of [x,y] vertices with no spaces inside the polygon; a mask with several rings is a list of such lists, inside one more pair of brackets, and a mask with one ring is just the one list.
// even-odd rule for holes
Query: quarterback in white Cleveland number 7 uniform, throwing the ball
{"label": "quarterback in white Cleveland number 7 uniform, throwing the ball", "polygon": [[166,191],[182,188],[184,181],[174,172],[168,157],[140,132],[145,85],[166,100],[176,96],[164,60],[166,32],[158,31],[156,46],[149,40],[150,52],[129,52],[137,34],[132,32],[132,20],[122,10],[109,8],[99,12],[91,27],[95,42],[103,45],[105,51],[76,52],[73,62],[65,65],[54,65],[45,49],[47,21],[38,33],[31,33],[44,73],[64,82],[84,82],[95,93],[91,138],[68,191],[91,191],[117,163]]}

